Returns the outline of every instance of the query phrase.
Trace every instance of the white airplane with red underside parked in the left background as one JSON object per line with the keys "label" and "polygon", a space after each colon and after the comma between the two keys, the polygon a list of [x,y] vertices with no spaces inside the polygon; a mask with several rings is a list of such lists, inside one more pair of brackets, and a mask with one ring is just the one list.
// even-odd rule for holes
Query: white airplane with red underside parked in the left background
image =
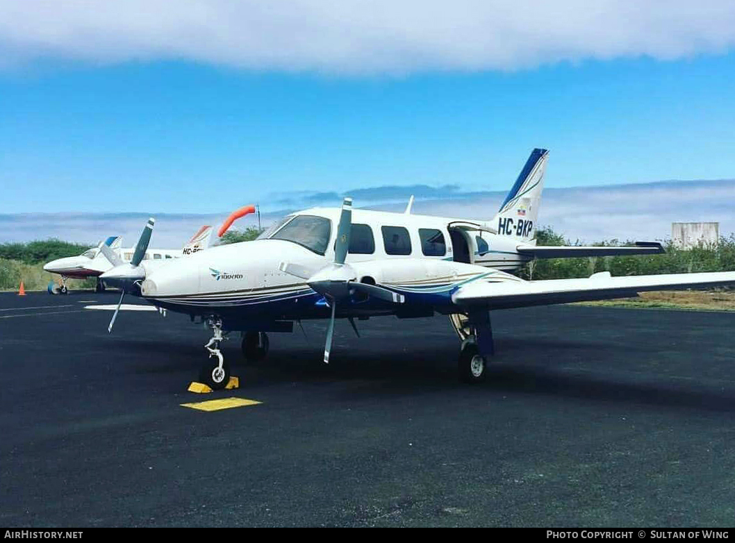
{"label": "white airplane with red underside parked in the left background", "polygon": [[[184,245],[183,249],[148,249],[143,259],[177,259],[179,256],[193,254],[209,247],[210,237],[212,237],[212,226],[202,226],[187,244]],[[97,278],[96,292],[104,292],[105,284],[100,276],[102,273],[110,270],[112,264],[109,259],[105,258],[102,247],[104,245],[110,251],[113,251],[121,260],[130,262],[134,248],[121,248],[122,241],[123,238],[120,236],[110,236],[104,242],[100,242],[96,247],[90,248],[78,256],[67,256],[62,259],[47,262],[43,265],[43,269],[61,276],[60,285],[51,281],[51,284],[49,284],[49,293],[66,294],[68,292],[68,287],[66,286],[67,278],[86,279],[88,277]]]}

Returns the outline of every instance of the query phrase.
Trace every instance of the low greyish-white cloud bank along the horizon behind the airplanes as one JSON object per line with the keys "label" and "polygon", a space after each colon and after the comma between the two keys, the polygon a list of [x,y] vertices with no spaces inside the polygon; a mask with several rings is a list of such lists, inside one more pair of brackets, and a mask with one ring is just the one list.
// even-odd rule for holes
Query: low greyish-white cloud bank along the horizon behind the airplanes
{"label": "low greyish-white cloud bank along the horizon behind the airplanes", "polygon": [[[376,189],[371,193],[376,194]],[[395,187],[387,187],[387,195]],[[305,201],[309,201],[306,195]],[[445,200],[417,200],[416,214],[443,217],[490,219],[505,193],[453,194]],[[735,232],[731,202],[735,201],[735,180],[667,181],[617,185],[612,187],[573,187],[544,190],[538,223],[551,226],[571,240],[664,240],[671,235],[673,222],[719,222],[720,234]],[[302,204],[303,202],[294,202]],[[298,208],[312,205],[298,205]],[[330,202],[330,205],[338,203]],[[359,201],[356,201],[359,206]],[[401,204],[380,204],[373,209],[403,211]],[[262,216],[267,226],[288,210]],[[228,212],[210,215],[157,215],[153,244],[157,248],[179,248],[203,224],[218,229]],[[24,213],[0,215],[0,243],[58,237],[76,242],[95,242],[111,235],[122,235],[126,245],[135,244],[149,215],[143,213]],[[243,217],[234,228],[257,224],[254,215]]]}

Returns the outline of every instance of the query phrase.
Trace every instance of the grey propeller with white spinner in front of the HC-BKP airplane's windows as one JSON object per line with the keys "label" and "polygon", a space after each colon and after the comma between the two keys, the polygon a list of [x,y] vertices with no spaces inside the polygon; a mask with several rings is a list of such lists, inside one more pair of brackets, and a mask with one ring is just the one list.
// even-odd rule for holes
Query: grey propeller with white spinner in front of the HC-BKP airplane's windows
{"label": "grey propeller with white spinner in front of the HC-BKP airplane's windows", "polygon": [[[334,320],[337,315],[337,303],[358,291],[363,294],[379,298],[390,303],[404,303],[404,295],[378,287],[374,284],[360,283],[356,281],[356,272],[351,265],[345,264],[348,249],[350,248],[350,234],[352,230],[352,198],[345,198],[342,204],[340,223],[337,226],[337,240],[334,244],[334,262],[313,273],[304,266],[282,262],[279,270],[292,276],[306,280],[306,284],[313,290],[324,296],[331,308],[329,325],[326,329],[326,342],[324,345],[324,362],[329,364],[329,352],[331,351],[332,337],[334,336]],[[354,321],[352,322],[353,328]],[[355,328],[355,332],[357,330]],[[358,334],[359,336],[359,334]]]}

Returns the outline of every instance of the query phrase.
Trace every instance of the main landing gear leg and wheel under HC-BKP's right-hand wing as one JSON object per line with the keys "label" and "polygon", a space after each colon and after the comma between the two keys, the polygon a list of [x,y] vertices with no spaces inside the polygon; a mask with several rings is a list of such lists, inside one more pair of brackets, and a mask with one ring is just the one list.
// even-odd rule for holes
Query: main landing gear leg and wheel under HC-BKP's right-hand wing
{"label": "main landing gear leg and wheel under HC-BKP's right-hand wing", "polygon": [[466,383],[484,381],[487,377],[490,356],[495,354],[490,312],[473,311],[467,315],[456,314],[451,315],[450,320],[459,339],[462,339],[457,362],[459,379]]}

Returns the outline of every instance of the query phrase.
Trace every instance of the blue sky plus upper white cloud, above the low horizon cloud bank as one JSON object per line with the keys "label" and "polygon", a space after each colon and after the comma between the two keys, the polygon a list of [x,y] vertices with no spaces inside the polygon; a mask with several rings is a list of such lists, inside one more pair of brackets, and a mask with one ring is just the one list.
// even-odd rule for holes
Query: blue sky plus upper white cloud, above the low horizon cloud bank
{"label": "blue sky plus upper white cloud, above the low horizon cloud bank", "polygon": [[735,177],[728,2],[564,0],[534,26],[502,1],[85,1],[0,1],[0,213],[504,190],[534,146],[548,187]]}

